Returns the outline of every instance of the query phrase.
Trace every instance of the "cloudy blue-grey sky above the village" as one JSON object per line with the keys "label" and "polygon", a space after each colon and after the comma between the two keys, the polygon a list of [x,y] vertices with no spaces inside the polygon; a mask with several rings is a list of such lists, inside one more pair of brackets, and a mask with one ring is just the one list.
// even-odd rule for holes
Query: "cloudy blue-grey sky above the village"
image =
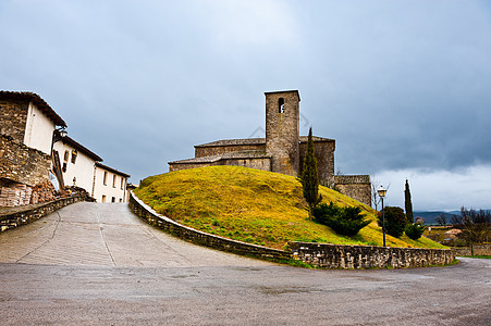
{"label": "cloudy blue-grey sky above the village", "polygon": [[388,204],[409,178],[415,210],[491,209],[486,0],[1,0],[0,88],[41,96],[133,183],[263,136],[263,92],[298,89],[302,133]]}

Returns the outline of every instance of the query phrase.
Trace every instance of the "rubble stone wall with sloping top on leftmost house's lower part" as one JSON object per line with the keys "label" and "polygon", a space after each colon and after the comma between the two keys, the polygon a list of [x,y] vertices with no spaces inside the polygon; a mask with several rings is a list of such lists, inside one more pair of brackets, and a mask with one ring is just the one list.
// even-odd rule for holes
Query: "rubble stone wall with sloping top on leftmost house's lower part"
{"label": "rubble stone wall with sloping top on leftmost house's lower part", "polygon": [[48,180],[50,156],[0,135],[0,178],[35,186]]}

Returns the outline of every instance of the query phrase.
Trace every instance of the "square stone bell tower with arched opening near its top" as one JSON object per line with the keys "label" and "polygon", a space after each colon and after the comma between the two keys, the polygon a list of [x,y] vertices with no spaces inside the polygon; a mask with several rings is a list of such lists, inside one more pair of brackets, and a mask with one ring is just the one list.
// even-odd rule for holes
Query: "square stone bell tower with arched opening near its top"
{"label": "square stone bell tower with arched opening near its top", "polygon": [[297,176],[299,167],[298,90],[270,91],[266,96],[266,152],[271,171]]}

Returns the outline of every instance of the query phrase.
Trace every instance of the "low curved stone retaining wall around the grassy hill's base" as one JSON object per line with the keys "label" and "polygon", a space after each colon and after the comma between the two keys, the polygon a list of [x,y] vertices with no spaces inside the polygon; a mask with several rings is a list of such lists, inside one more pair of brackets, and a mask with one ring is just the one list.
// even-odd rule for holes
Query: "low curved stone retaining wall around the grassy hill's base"
{"label": "low curved stone retaining wall around the grassy hill's base", "polygon": [[454,261],[450,249],[393,248],[376,246],[342,246],[330,243],[290,242],[291,252],[241,242],[184,226],[162,216],[133,192],[130,209],[147,223],[181,239],[243,255],[273,259],[296,259],[324,268],[384,268],[445,265]]}

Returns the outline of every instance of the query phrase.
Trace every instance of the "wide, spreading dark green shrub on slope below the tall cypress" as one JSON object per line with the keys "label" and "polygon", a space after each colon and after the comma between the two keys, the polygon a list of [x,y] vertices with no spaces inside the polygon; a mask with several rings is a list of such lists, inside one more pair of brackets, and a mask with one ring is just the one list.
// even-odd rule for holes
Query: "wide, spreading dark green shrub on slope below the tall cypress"
{"label": "wide, spreading dark green shrub on slope below the tall cypress", "polygon": [[370,224],[361,214],[361,209],[356,206],[340,208],[334,203],[329,205],[321,203],[314,209],[315,220],[329,226],[339,235],[353,237],[358,231]]}

